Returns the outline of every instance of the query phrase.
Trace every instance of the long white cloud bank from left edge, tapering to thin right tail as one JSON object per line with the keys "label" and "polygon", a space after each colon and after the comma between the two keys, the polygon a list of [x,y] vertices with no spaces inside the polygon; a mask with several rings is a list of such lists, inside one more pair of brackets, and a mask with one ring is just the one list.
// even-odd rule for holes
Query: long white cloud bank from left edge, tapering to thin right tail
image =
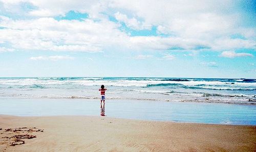
{"label": "long white cloud bank from left edge, tapering to thin right tail", "polygon": [[99,52],[104,48],[135,50],[167,50],[172,47],[191,49],[207,46],[198,39],[159,36],[133,36],[118,30],[119,25],[109,20],[60,20],[42,17],[13,20],[0,16],[0,39],[16,49]]}

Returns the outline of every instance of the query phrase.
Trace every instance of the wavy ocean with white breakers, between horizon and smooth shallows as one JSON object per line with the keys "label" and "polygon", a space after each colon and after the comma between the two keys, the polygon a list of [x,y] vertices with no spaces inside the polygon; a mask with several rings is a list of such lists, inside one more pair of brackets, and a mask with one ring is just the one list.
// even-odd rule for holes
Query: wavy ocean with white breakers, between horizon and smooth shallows
{"label": "wavy ocean with white breakers, between horizon and smooth shallows", "polygon": [[256,79],[31,77],[0,78],[0,99],[99,99],[256,104]]}

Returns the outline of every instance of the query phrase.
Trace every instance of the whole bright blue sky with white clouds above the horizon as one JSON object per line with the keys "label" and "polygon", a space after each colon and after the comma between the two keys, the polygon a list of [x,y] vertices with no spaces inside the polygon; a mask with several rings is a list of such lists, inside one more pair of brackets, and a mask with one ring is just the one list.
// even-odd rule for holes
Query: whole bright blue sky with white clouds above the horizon
{"label": "whole bright blue sky with white clouds above the horizon", "polygon": [[0,77],[256,78],[255,6],[0,0]]}

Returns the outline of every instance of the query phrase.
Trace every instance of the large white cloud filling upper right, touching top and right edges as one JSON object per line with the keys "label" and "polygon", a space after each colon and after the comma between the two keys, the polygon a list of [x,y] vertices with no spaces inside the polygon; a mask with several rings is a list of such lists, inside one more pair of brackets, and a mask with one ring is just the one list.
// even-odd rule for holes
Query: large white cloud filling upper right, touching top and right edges
{"label": "large white cloud filling upper right, touching top and right edges", "polygon": [[[134,16],[143,18],[145,24],[157,27],[157,33],[170,34],[173,38],[180,39],[182,45],[205,45],[216,51],[255,49],[255,28],[242,28],[243,15],[236,5],[238,5],[237,2],[233,1],[142,0],[139,2],[113,1],[110,6],[113,9],[122,8],[123,12],[128,11]],[[226,13],[223,10],[233,10],[235,13]],[[237,33],[246,35],[248,39],[229,38],[230,35]],[[170,40],[170,42],[173,41]],[[145,43],[151,45],[150,42]],[[160,50],[162,44],[166,42],[159,43]],[[182,47],[182,45],[179,46]],[[175,45],[171,46],[175,47]]]}

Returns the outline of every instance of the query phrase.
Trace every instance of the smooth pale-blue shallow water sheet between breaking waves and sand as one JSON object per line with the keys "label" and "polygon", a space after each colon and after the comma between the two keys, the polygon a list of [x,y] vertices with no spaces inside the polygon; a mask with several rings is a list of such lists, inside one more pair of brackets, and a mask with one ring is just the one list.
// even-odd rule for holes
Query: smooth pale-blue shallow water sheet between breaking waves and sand
{"label": "smooth pale-blue shallow water sheet between breaking waves and sand", "polygon": [[[101,113],[100,103],[94,99],[0,99],[0,105],[2,115],[100,116]],[[256,106],[223,103],[106,100],[105,115],[139,120],[256,125]]]}

